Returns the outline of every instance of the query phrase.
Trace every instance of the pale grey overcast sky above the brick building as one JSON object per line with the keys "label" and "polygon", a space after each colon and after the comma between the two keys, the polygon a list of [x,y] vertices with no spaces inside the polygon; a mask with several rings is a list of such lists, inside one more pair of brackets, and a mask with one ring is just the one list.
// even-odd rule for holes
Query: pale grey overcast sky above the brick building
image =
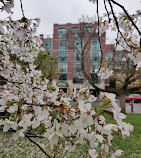
{"label": "pale grey overcast sky above the brick building", "polygon": [[[53,24],[78,23],[82,15],[94,16],[95,5],[89,0],[22,0],[25,16],[28,18],[39,17],[41,19],[38,33],[53,33]],[[117,0],[121,2],[128,11],[135,12],[141,9],[140,0]],[[100,11],[103,13],[103,6]],[[118,9],[115,7],[115,10]],[[6,17],[2,13],[1,17]],[[20,10],[20,0],[15,0],[14,19],[22,17]]]}

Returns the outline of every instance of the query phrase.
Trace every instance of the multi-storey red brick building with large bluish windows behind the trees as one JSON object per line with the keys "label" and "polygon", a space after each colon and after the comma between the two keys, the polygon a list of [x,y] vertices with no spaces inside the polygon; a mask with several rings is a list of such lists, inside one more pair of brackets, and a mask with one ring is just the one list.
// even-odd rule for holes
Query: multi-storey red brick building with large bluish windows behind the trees
{"label": "multi-storey red brick building with large bluish windows behind the trees", "polygon": [[[68,88],[73,91],[74,88],[79,90],[80,86],[88,86],[88,82],[81,70],[80,54],[82,47],[87,42],[85,70],[95,79],[98,86],[105,88],[105,82],[94,73],[94,70],[99,68],[101,60],[96,23],[94,25],[90,23],[54,24],[53,38],[44,38],[43,34],[40,35],[40,38],[43,41],[43,47],[50,53],[51,57],[58,57],[58,73],[54,76],[54,80],[65,92]],[[106,61],[109,69],[118,72],[126,66],[122,61],[124,52],[116,51],[114,53],[114,45],[106,44],[106,32],[101,35],[101,46],[103,61]],[[113,59],[114,63],[112,62]],[[94,95],[99,95],[91,86],[89,89]]]}

